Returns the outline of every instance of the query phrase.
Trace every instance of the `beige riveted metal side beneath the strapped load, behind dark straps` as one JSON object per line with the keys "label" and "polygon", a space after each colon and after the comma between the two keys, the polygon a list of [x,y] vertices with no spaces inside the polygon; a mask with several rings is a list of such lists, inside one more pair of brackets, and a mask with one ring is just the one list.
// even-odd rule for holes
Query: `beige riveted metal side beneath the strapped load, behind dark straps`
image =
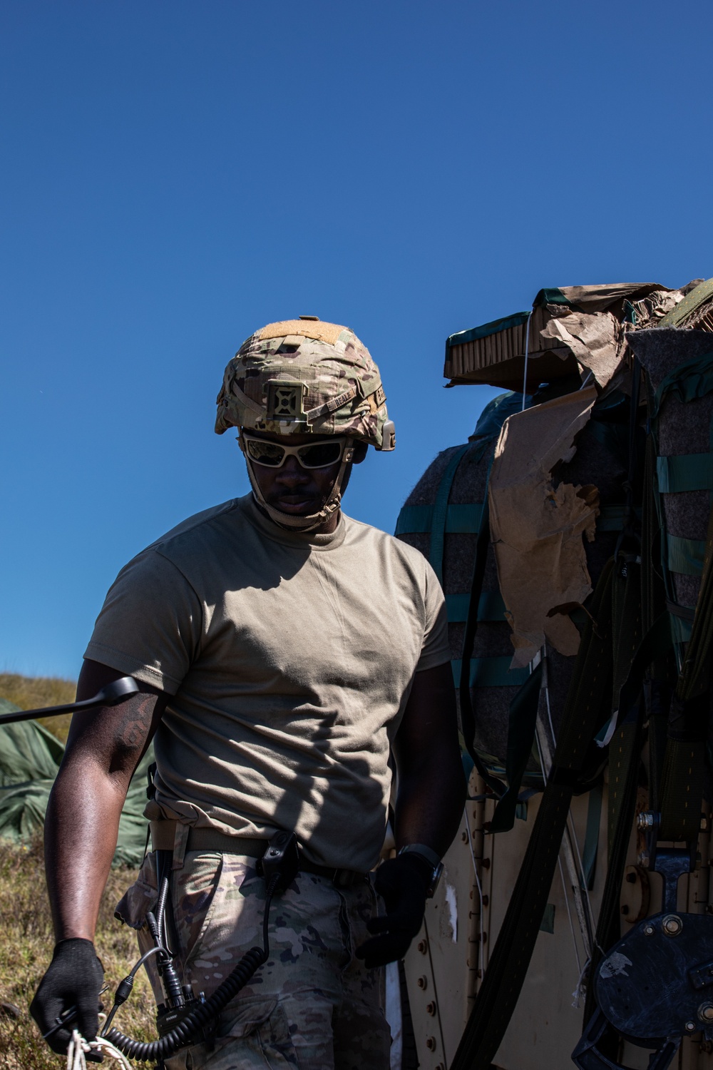
{"label": "beige riveted metal side beneath the strapped load, behind dark straps", "polygon": [[[471,783],[471,794],[481,790],[482,785]],[[603,794],[594,887],[589,892],[594,917],[599,914],[606,876],[606,784]],[[447,1070],[453,1059],[472,1004],[474,990],[480,983],[481,970],[487,966],[489,953],[502,924],[539,805],[539,796],[534,796],[528,802],[527,821],[516,821],[512,831],[498,836],[483,835],[483,821],[492,817],[493,804],[467,805],[469,840],[464,836],[464,822],[446,856],[445,882],[429,904],[425,924],[405,960],[418,1057],[423,1070]],[[584,845],[588,806],[589,795],[572,801],[575,856],[577,845],[579,851]],[[647,794],[640,791],[637,809],[647,808]],[[707,821],[710,828],[708,812]],[[625,907],[621,916],[622,934],[635,923],[641,905],[642,870],[638,865],[638,855],[644,846],[641,834],[633,828],[626,872],[633,874],[635,880],[624,881],[622,888],[621,906]],[[680,881],[679,908],[713,914],[708,830],[701,835],[699,851],[700,868]],[[482,907],[474,878],[474,856],[482,890]],[[555,908],[554,932],[540,932],[538,936],[521,998],[494,1060],[494,1065],[501,1070],[571,1070],[573,1066],[571,1053],[582,1034],[584,1012],[584,995],[576,1008],[572,1006],[573,993],[585,954],[572,892],[568,888],[565,895],[564,890],[568,882],[564,867],[563,873],[564,887],[558,869],[548,897]],[[651,915],[661,910],[661,878],[655,873],[647,875],[650,888],[646,914]],[[684,1039],[673,1070],[713,1070],[713,1045],[701,1044],[700,1041],[700,1037]],[[707,1050],[709,1046],[711,1051]],[[632,1070],[646,1070],[650,1054],[647,1049],[625,1043],[619,1061]]]}

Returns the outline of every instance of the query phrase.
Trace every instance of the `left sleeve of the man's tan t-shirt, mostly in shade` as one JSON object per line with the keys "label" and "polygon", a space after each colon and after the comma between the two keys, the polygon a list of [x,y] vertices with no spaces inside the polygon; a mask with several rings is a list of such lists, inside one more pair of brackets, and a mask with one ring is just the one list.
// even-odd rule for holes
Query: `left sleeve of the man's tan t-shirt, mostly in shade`
{"label": "left sleeve of the man's tan t-shirt, mostly in shade", "polygon": [[84,657],[175,694],[202,626],[201,601],[183,572],[144,550],[109,588]]}

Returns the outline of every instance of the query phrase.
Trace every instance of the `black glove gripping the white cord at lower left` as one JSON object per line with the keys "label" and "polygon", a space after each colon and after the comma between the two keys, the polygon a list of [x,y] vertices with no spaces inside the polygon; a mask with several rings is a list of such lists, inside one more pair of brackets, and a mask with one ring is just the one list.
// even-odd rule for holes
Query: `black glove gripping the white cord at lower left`
{"label": "black glove gripping the white cord at lower left", "polygon": [[90,939],[72,937],[55,945],[52,961],[40,981],[30,1013],[44,1035],[57,1025],[57,1019],[64,1011],[76,1007],[76,1017],[47,1037],[47,1043],[58,1055],[66,1052],[73,1029],[79,1029],[84,1040],[96,1037],[103,983],[104,966]]}

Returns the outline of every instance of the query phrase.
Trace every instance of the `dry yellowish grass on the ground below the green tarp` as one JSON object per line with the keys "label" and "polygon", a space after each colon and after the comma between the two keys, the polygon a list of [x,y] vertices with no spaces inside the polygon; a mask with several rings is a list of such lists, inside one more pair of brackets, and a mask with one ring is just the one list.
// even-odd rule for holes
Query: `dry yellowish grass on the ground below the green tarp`
{"label": "dry yellowish grass on the ground below the green tarp", "polygon": [[[135,870],[112,870],[102,900],[96,948],[112,991],[138,958],[134,931],[113,917],[117,902],[135,875]],[[40,837],[29,846],[0,840],[0,1003],[14,1004],[20,1011],[17,1019],[0,1013],[0,1067],[58,1070],[65,1060],[40,1039],[28,1012],[53,945]],[[108,996],[109,992],[103,997],[105,1005]],[[117,1025],[141,1040],[156,1036],[154,1002],[143,970],[117,1015]]]}

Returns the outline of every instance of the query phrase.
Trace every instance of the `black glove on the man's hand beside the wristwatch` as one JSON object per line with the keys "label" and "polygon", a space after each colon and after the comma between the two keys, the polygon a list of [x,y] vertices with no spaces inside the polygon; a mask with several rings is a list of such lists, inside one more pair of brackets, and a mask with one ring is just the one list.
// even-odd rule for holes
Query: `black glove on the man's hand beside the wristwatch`
{"label": "black glove on the man's hand beside the wristwatch", "polygon": [[415,854],[389,858],[376,870],[374,888],[386,914],[367,922],[369,932],[378,935],[356,949],[368,969],[403,959],[423,921],[431,873],[427,860]]}

